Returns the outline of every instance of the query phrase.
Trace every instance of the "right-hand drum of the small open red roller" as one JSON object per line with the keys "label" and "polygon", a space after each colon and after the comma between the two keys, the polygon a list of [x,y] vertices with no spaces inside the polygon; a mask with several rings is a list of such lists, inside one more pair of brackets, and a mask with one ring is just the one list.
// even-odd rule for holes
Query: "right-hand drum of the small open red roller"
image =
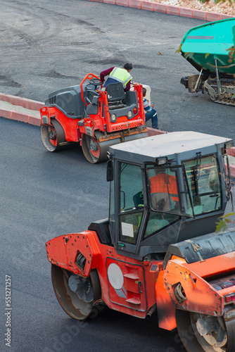
{"label": "right-hand drum of the small open red roller", "polygon": [[82,134],[82,151],[90,163],[101,163],[107,160],[108,145],[100,144],[96,137]]}

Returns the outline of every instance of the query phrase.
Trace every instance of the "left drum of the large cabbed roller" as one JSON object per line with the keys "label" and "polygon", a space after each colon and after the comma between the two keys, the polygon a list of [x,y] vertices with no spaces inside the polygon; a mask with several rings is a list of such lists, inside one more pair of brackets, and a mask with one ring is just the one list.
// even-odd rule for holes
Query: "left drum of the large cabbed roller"
{"label": "left drum of the large cabbed roller", "polygon": [[52,265],[51,279],[61,307],[71,318],[85,320],[96,313],[93,304],[101,298],[101,285],[96,270],[91,270],[89,277],[82,277]]}

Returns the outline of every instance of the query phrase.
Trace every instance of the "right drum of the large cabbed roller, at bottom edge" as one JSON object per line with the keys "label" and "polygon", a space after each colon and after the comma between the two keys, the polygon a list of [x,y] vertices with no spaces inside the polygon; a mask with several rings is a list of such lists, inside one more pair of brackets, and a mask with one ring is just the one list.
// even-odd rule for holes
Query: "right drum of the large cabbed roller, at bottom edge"
{"label": "right drum of the large cabbed roller, at bottom edge", "polygon": [[234,351],[234,334],[230,333],[232,331],[231,324],[227,325],[224,318],[177,310],[176,320],[179,337],[182,339],[186,351]]}

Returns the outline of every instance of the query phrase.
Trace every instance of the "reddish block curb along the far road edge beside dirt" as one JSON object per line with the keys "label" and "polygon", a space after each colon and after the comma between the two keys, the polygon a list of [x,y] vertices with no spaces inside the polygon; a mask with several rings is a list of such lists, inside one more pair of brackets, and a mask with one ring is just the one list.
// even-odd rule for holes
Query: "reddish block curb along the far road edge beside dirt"
{"label": "reddish block curb along the far road edge beside dirt", "polygon": [[196,20],[205,20],[213,22],[216,20],[225,20],[226,18],[234,18],[232,15],[224,15],[222,13],[206,12],[202,10],[193,10],[192,8],[184,8],[179,6],[158,4],[147,0],[87,0],[99,2],[102,4],[126,6],[138,8],[139,10],[166,13],[167,15],[177,15],[182,17],[195,18]]}

